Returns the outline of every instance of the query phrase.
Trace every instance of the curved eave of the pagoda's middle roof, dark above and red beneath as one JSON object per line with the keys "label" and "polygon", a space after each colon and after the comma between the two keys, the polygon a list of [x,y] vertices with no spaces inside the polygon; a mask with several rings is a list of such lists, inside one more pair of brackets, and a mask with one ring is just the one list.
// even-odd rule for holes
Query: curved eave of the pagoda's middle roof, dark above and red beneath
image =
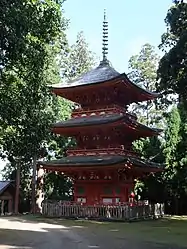
{"label": "curved eave of the pagoda's middle roof, dark above and red beneath", "polygon": [[74,134],[77,130],[88,130],[90,128],[100,129],[107,127],[124,126],[135,132],[146,133],[147,135],[159,135],[161,129],[150,128],[143,124],[131,120],[124,115],[92,116],[85,118],[75,118],[64,122],[59,122],[52,127],[52,131],[57,134]]}

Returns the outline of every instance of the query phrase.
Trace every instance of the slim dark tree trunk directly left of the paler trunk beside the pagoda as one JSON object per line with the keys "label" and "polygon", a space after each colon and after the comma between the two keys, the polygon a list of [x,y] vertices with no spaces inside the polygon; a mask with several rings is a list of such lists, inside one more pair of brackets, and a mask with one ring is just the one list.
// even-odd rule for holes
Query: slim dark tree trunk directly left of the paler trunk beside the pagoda
{"label": "slim dark tree trunk directly left of the paler trunk beside the pagoda", "polygon": [[31,194],[31,212],[36,213],[36,170],[37,170],[37,157],[33,157],[33,172],[32,172],[32,194]]}

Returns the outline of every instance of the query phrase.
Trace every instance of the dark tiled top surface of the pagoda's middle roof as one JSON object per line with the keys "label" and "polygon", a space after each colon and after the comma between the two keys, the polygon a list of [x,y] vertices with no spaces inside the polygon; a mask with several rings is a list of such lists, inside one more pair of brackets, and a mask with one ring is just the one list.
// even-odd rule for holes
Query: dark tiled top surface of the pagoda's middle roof
{"label": "dark tiled top surface of the pagoda's middle roof", "polygon": [[105,114],[105,115],[95,115],[88,117],[72,118],[70,120],[58,122],[53,125],[53,128],[60,127],[84,127],[84,126],[94,126],[107,123],[113,123],[118,120],[122,120],[127,125],[131,125],[136,129],[149,130],[150,132],[159,133],[162,130],[157,128],[150,128],[145,125],[138,123],[136,120],[131,119],[128,115],[121,115],[119,113],[115,114]]}

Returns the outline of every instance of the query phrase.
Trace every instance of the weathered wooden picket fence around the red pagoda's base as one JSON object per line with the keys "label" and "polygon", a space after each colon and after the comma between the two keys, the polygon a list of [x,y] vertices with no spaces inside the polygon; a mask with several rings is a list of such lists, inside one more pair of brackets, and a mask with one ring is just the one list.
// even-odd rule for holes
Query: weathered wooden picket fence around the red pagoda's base
{"label": "weathered wooden picket fence around the red pagoda's base", "polygon": [[144,220],[160,218],[164,215],[164,204],[124,205],[124,206],[82,206],[62,205],[45,202],[42,214],[46,217],[87,218],[100,220]]}

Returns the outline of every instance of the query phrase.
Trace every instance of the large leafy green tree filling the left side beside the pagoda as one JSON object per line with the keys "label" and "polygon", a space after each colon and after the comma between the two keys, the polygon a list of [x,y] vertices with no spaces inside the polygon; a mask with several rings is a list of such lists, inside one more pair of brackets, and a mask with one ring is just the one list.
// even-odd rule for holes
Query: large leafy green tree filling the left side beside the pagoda
{"label": "large leafy green tree filling the left side beside the pagoda", "polygon": [[50,66],[64,45],[60,2],[3,1],[1,8],[1,141],[12,165],[32,162],[33,186],[36,160],[55,118],[47,84],[59,74]]}

